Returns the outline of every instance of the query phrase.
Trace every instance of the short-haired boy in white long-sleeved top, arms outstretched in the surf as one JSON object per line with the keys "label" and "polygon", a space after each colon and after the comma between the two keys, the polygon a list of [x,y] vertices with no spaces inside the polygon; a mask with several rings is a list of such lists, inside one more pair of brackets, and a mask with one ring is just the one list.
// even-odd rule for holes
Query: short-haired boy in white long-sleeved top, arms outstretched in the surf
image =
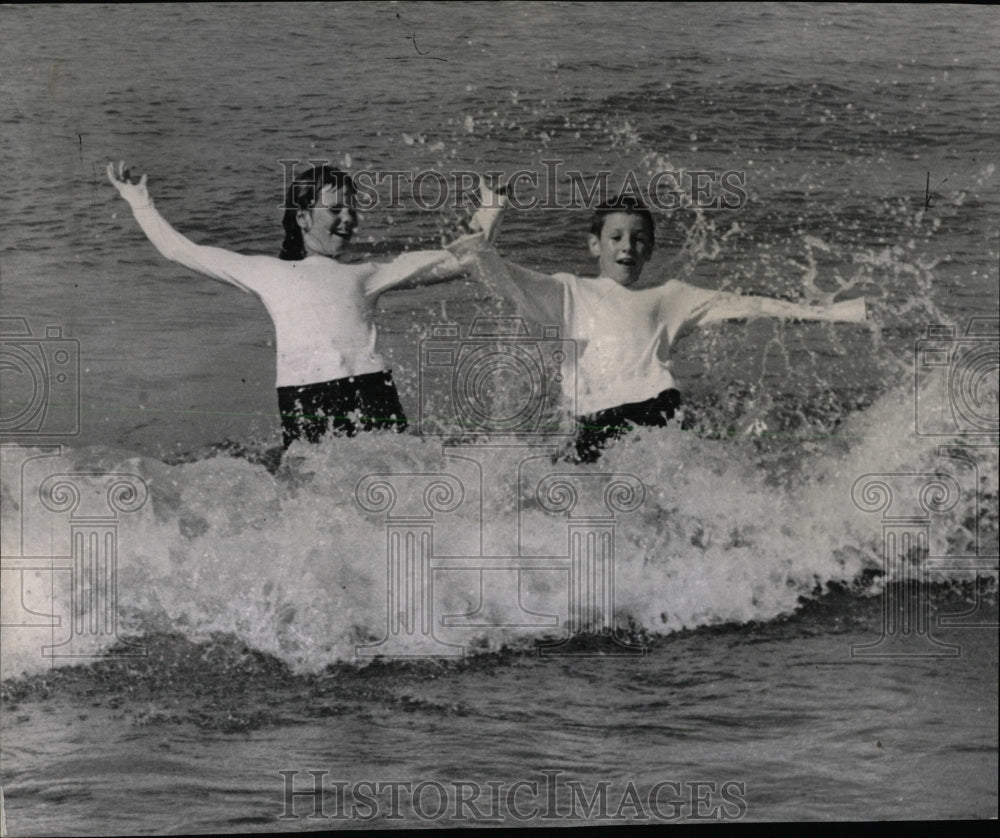
{"label": "short-haired boy in white long-sleeved top, arms outstretched in the surf", "polygon": [[[577,344],[576,369],[564,371],[563,381],[567,389],[576,383],[578,462],[594,462],[630,424],[666,425],[681,403],[670,349],[691,329],[755,316],[865,319],[864,299],[812,306],[709,291],[678,280],[636,288],[655,236],[652,214],[632,197],[597,207],[588,242],[600,269],[593,279],[536,273],[491,250],[477,257],[485,275],[521,313],[539,323],[560,324],[560,337]],[[572,398],[571,391],[564,395]]]}

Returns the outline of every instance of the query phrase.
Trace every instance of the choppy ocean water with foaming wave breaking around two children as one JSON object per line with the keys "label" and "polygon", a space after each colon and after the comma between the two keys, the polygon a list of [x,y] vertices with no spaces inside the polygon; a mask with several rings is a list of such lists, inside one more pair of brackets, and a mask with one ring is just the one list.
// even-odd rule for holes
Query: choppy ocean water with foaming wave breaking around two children
{"label": "choppy ocean water with foaming wave breaking around two children", "polygon": [[[996,817],[990,9],[0,21],[12,835]],[[684,338],[684,426],[593,465],[553,462],[558,437],[411,433],[296,446],[279,467],[263,306],[159,257],[104,179],[119,159],[191,238],[270,254],[280,161],[520,171],[539,201],[507,213],[499,249],[584,275],[586,211],[537,205],[565,204],[572,173],[612,190],[736,173],[738,206],[657,211],[644,278],[863,295],[869,322]],[[398,206],[379,196],[362,258],[436,247],[467,212],[423,209],[405,182]],[[512,313],[473,279],[380,299],[414,428],[460,410],[421,366],[434,327],[466,340]],[[26,389],[29,367],[48,390]],[[23,409],[36,396],[42,418]],[[310,771],[331,818],[288,797]],[[378,784],[397,782],[394,805]],[[606,811],[574,783],[588,800],[605,783]]]}

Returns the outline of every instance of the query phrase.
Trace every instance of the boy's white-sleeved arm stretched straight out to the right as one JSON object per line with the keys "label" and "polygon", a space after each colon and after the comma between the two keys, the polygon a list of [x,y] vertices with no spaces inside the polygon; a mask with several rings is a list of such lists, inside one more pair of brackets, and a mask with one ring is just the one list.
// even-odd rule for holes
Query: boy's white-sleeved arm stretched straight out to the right
{"label": "boy's white-sleeved arm stretched straight out to the right", "polygon": [[711,291],[683,282],[664,286],[670,307],[670,333],[674,339],[699,326],[722,320],[780,317],[784,320],[825,320],[863,323],[867,319],[864,297],[829,305],[810,305],[776,300],[773,297],[744,296],[728,291]]}

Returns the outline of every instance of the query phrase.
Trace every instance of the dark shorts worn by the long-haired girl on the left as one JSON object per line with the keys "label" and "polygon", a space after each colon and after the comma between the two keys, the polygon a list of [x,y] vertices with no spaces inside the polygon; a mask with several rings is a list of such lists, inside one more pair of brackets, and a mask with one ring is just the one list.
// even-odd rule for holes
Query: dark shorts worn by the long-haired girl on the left
{"label": "dark shorts worn by the long-haired girl on the left", "polygon": [[326,434],[354,436],[358,431],[406,430],[406,415],[392,371],[372,372],[278,388],[282,441],[319,442]]}

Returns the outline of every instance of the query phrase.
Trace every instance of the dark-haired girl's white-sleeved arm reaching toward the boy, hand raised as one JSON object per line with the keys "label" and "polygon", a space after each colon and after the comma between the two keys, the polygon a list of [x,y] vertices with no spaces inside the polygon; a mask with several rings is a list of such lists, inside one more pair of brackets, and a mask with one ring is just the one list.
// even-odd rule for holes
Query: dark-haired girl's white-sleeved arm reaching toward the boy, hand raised
{"label": "dark-haired girl's white-sleeved arm reaching toward the boy, hand raised", "polygon": [[392,288],[414,288],[466,276],[475,266],[476,254],[489,247],[500,230],[500,218],[507,206],[506,190],[496,192],[479,180],[480,207],[470,219],[473,231],[461,236],[442,250],[404,253],[384,265],[375,266],[365,280],[365,293],[380,294]]}

